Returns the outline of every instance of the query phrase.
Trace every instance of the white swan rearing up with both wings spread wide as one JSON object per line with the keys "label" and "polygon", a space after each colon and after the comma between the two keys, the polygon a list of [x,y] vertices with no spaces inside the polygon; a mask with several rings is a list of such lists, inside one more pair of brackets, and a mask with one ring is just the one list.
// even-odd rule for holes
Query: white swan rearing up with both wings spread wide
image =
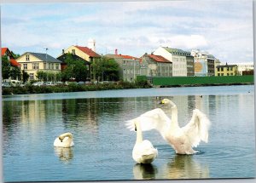
{"label": "white swan rearing up with both wings spread wide", "polygon": [[170,106],[171,119],[162,109],[156,108],[127,121],[127,128],[133,130],[132,123],[137,121],[142,131],[158,130],[177,154],[194,154],[197,151],[193,150],[193,147],[198,146],[201,140],[208,142],[210,121],[203,112],[198,109],[193,110],[190,122],[180,128],[177,123],[177,106],[168,99],[161,100],[160,104]]}

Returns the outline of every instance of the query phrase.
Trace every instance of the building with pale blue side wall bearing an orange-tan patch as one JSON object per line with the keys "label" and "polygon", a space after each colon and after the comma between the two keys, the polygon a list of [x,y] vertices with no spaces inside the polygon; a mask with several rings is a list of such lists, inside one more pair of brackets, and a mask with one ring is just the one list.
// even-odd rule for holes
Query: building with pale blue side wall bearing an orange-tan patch
{"label": "building with pale blue side wall bearing an orange-tan patch", "polygon": [[195,76],[210,77],[215,75],[215,65],[218,60],[212,54],[199,49],[192,50],[191,54],[194,56],[195,61]]}

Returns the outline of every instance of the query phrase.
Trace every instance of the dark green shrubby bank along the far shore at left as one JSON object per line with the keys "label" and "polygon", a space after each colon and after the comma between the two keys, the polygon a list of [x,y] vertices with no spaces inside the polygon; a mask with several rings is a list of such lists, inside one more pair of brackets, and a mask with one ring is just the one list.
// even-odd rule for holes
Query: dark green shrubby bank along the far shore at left
{"label": "dark green shrubby bank along the far shore at left", "polygon": [[110,89],[148,89],[150,84],[147,81],[138,81],[136,83],[119,82],[119,83],[98,83],[79,85],[71,83],[69,85],[57,86],[32,86],[28,84],[20,87],[2,88],[3,95],[9,94],[47,94],[47,93],[66,93],[66,92],[79,92],[79,91],[98,91]]}

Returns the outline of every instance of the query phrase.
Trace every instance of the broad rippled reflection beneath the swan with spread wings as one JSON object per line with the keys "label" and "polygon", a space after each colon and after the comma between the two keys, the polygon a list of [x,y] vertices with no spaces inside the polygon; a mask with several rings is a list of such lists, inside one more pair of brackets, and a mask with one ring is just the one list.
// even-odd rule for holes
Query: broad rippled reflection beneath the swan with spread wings
{"label": "broad rippled reflection beneath the swan with spread wings", "polygon": [[[196,156],[196,155],[194,155]],[[163,168],[164,179],[205,179],[209,178],[207,165],[197,163],[188,155],[176,155],[170,163]]]}

